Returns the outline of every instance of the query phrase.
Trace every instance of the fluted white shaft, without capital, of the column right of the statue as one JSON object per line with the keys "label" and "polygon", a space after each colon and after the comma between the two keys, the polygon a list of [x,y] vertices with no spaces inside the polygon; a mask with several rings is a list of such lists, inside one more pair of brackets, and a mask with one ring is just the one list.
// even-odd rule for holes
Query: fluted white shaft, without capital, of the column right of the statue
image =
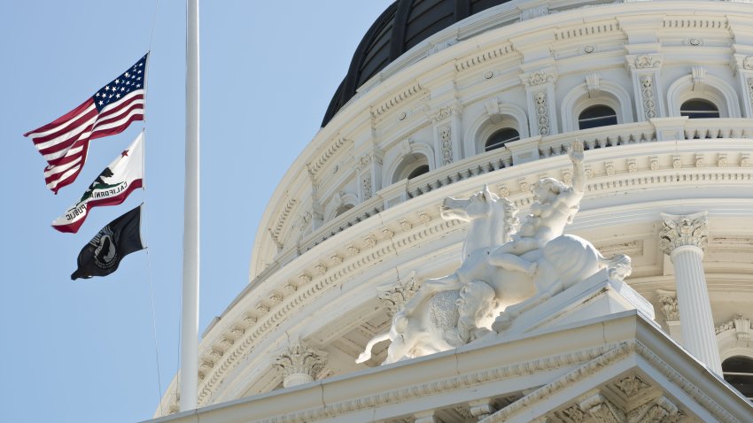
{"label": "fluted white shaft, without capital, of the column right of the statue", "polygon": [[677,282],[679,319],[685,347],[714,372],[722,374],[709,291],[703,273],[703,250],[684,245],[671,252]]}

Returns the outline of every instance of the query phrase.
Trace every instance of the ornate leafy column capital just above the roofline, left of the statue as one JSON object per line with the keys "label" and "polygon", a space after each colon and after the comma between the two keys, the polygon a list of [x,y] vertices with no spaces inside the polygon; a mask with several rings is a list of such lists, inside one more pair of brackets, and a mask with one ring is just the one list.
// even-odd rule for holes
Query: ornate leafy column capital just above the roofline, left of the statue
{"label": "ornate leafy column capital just above the roofline, left of the statue", "polygon": [[326,364],[326,352],[314,350],[300,340],[285,347],[273,363],[283,375],[285,388],[314,381]]}

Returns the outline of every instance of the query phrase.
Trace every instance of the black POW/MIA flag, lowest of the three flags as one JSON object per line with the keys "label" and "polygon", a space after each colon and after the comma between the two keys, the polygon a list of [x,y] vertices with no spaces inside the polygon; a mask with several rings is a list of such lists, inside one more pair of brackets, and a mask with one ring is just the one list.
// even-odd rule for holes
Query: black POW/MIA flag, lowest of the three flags
{"label": "black POW/MIA flag, lowest of the three flags", "polygon": [[103,227],[79,253],[72,280],[106,276],[115,272],[120,260],[128,254],[144,250],[141,242],[141,205],[114,219]]}

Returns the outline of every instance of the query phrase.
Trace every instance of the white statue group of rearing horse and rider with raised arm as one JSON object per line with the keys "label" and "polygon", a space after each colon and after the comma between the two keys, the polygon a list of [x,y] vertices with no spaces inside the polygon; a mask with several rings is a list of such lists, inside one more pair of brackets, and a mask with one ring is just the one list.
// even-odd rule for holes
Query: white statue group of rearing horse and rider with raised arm
{"label": "white statue group of rearing horse and rider with raised arm", "polygon": [[572,184],[537,181],[530,212],[520,222],[515,204],[488,187],[468,199],[446,198],[442,217],[469,223],[462,265],[424,281],[395,313],[389,332],[369,341],[357,362],[369,359],[373,345],[386,340],[392,343],[384,364],[450,350],[504,332],[523,311],[605,267],[610,278],[630,274],[627,256],[604,258],[591,242],[563,235],[586,186],[583,143],[572,142],[568,154]]}

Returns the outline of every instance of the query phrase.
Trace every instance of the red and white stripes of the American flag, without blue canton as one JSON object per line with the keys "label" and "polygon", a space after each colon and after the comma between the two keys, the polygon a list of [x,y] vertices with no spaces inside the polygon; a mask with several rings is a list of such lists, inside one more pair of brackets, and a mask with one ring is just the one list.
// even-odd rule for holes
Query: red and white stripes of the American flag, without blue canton
{"label": "red and white stripes of the American flag, without blue canton", "polygon": [[135,120],[144,120],[144,89],[136,89],[97,112],[89,98],[71,112],[24,134],[47,160],[44,181],[55,194],[81,173],[89,141],[120,134]]}

